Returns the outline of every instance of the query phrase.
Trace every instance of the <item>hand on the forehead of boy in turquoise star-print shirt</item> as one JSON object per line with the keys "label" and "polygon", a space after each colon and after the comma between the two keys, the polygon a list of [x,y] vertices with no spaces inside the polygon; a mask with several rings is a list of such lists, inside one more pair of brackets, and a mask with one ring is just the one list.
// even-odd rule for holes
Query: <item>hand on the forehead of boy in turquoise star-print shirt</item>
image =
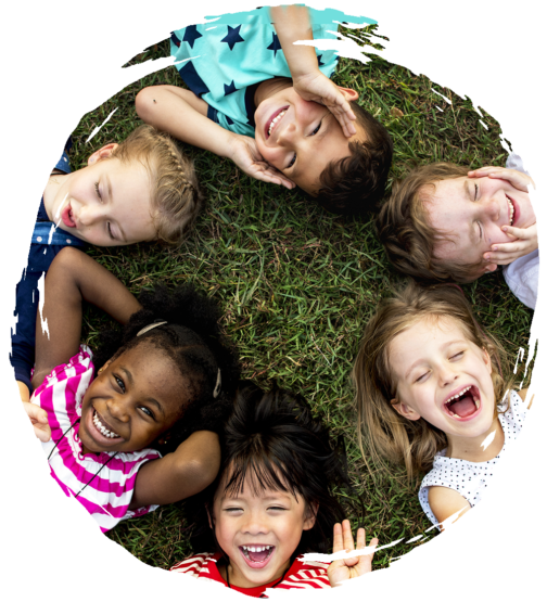
{"label": "hand on the forehead of boy in turquoise star-print shirt", "polygon": [[319,69],[293,79],[293,87],[304,100],[314,101],[327,106],[336,117],[346,138],[357,133],[357,129],[352,123],[355,119],[355,114],[349,103],[340,91],[340,88]]}

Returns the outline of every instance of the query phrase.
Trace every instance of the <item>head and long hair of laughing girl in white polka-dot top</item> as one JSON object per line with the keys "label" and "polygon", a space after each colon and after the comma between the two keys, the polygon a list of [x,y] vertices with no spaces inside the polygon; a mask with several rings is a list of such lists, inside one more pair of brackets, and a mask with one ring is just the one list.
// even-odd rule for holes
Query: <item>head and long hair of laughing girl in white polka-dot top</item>
{"label": "head and long hair of laughing girl in white polka-dot top", "polygon": [[[500,373],[505,374],[505,379]],[[450,437],[476,437],[512,386],[499,343],[456,285],[410,283],[365,329],[352,372],[365,456],[427,471]]]}

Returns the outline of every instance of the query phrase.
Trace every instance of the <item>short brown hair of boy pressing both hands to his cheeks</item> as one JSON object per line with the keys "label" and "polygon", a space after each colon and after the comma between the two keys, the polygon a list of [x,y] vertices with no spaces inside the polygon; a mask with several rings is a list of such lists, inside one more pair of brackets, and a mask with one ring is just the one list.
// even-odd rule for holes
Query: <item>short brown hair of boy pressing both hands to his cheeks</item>
{"label": "short brown hair of boy pressing both hands to his cheeks", "polygon": [[450,240],[446,232],[431,227],[427,201],[435,182],[467,176],[468,167],[454,163],[433,163],[414,168],[404,180],[394,182],[390,200],[377,218],[378,236],[390,261],[398,271],[422,283],[454,280],[471,282],[480,276],[482,259],[461,264],[434,256],[434,244]]}

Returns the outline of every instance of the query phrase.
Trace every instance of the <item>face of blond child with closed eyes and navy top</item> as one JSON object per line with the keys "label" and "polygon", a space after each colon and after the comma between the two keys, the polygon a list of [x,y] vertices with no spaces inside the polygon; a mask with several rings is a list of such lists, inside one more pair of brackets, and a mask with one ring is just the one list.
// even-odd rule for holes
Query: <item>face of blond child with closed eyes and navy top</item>
{"label": "face of blond child with closed eyes and navy top", "polygon": [[98,246],[156,239],[148,170],[136,159],[106,159],[116,146],[107,144],[93,153],[82,169],[50,178],[43,191],[49,218],[62,230]]}

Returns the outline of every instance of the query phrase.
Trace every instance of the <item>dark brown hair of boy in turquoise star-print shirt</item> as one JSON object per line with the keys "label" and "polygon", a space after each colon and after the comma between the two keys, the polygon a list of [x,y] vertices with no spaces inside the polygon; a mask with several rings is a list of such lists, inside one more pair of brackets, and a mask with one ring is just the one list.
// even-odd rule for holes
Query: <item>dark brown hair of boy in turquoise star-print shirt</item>
{"label": "dark brown hair of boy in turquoise star-print shirt", "polygon": [[382,124],[356,101],[349,103],[357,124],[367,133],[365,142],[349,142],[352,154],[331,162],[319,176],[314,201],[341,215],[364,215],[378,208],[387,182],[393,141]]}

